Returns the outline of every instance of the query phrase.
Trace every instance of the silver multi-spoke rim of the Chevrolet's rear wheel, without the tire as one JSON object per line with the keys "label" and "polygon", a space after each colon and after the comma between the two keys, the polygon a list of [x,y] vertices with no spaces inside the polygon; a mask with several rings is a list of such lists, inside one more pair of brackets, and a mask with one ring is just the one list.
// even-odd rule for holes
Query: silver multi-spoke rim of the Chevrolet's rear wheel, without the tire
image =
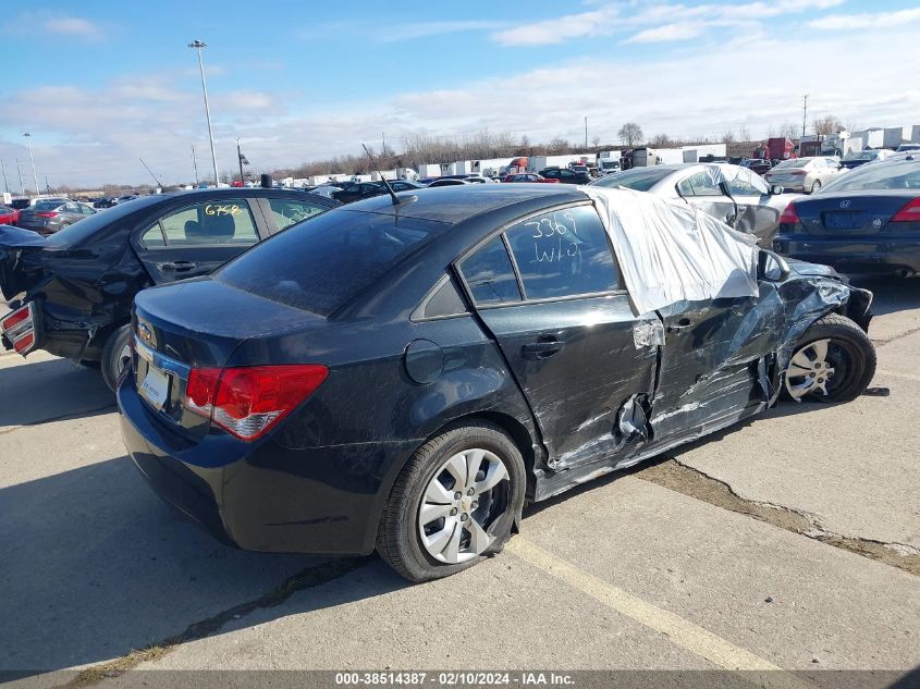
{"label": "silver multi-spoke rim of the Chevrolet's rear wheel, without the tire", "polygon": [[481,555],[494,542],[489,527],[507,509],[510,478],[488,450],[464,450],[444,462],[425,490],[418,534],[434,559],[458,564]]}

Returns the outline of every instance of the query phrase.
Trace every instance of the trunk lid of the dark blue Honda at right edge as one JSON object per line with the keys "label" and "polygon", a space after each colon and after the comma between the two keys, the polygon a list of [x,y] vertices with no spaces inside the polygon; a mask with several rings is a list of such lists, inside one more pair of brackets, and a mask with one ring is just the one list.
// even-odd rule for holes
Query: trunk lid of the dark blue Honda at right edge
{"label": "trunk lid of the dark blue Honda at right edge", "polygon": [[[817,236],[866,236],[883,232],[917,192],[839,192],[796,200],[805,231]],[[895,223],[898,224],[898,223]]]}

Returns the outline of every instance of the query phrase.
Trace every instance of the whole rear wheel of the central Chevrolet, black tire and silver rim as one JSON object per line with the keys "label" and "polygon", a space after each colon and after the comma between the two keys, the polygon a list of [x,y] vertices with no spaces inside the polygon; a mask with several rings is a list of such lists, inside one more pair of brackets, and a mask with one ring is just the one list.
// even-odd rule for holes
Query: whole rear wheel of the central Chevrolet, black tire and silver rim
{"label": "whole rear wheel of the central Chevrolet, black tire and silver rim", "polygon": [[[466,471],[473,463],[476,476],[457,485],[457,468]],[[481,421],[449,429],[419,447],[397,477],[377,551],[414,582],[467,569],[504,547],[520,518],[526,485],[520,451],[499,427]],[[425,524],[422,507],[429,512]]]}

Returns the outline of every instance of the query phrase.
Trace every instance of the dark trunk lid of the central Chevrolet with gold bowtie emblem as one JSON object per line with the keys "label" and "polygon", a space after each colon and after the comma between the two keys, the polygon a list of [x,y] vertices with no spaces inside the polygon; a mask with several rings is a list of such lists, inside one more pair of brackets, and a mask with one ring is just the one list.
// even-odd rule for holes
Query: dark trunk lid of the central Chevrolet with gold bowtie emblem
{"label": "dark trunk lid of the central Chevrolet with gold bowtie emblem", "polygon": [[246,340],[324,322],[209,278],[145,290],[135,299],[132,319],[134,382],[161,421],[188,440],[200,440],[210,419],[183,405],[191,369],[223,368]]}

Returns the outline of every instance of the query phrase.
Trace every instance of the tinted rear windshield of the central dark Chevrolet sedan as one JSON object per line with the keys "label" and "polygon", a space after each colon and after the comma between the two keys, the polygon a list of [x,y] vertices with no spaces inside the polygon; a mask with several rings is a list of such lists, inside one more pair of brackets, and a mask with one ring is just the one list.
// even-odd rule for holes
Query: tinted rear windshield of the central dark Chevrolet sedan
{"label": "tinted rear windshield of the central dark Chevrolet sedan", "polygon": [[452,226],[332,210],[253,247],[213,279],[328,317]]}

